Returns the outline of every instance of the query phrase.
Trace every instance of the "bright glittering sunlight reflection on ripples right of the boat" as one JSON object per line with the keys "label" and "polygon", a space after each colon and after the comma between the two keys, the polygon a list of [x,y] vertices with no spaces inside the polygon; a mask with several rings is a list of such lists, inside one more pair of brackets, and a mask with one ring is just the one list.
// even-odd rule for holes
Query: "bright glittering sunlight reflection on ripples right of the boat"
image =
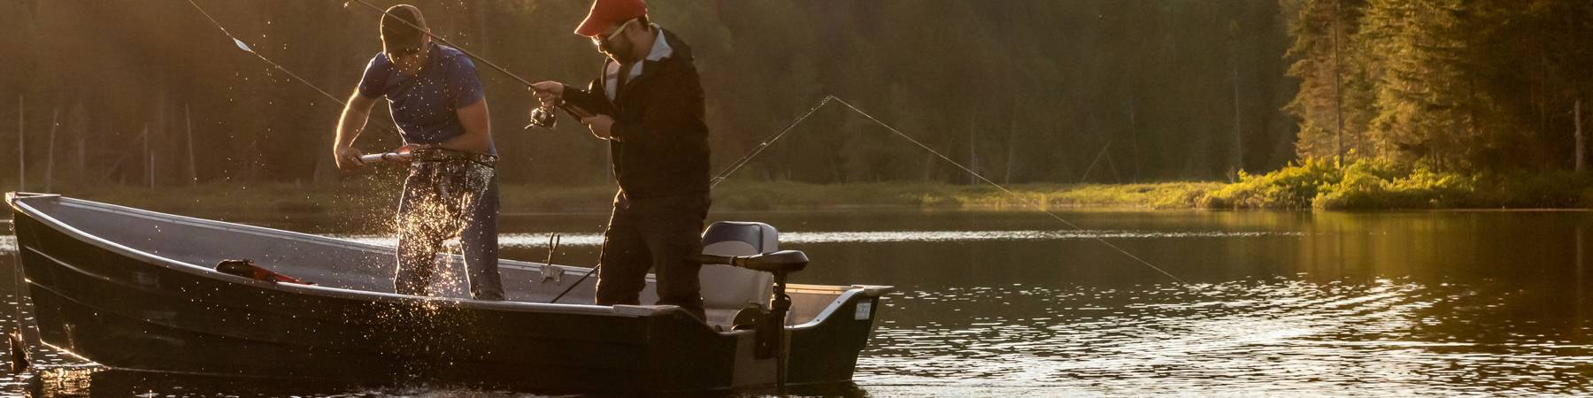
{"label": "bright glittering sunlight reflection on ripples right of the boat", "polygon": [[[1376,393],[1585,392],[1577,374],[1593,369],[1593,345],[1427,333],[1474,322],[1454,304],[1504,299],[1399,280],[900,291],[886,307],[903,317],[875,331],[857,382],[1039,382],[1136,393],[1343,393],[1335,388],[1351,385],[1378,385]],[[914,320],[929,310],[967,315]]]}

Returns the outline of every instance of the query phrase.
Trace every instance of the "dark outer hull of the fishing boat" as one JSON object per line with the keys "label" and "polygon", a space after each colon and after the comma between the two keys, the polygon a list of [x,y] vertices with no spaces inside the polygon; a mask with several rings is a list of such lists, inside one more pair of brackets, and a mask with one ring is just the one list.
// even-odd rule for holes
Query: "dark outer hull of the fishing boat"
{"label": "dark outer hull of the fishing boat", "polygon": [[[129,253],[18,201],[13,209],[40,338],[118,369],[538,393],[773,380],[773,361],[752,357],[752,333],[718,333],[674,307],[277,285]],[[878,291],[867,293],[832,295],[832,314],[787,328],[792,384],[851,380],[878,309]]]}

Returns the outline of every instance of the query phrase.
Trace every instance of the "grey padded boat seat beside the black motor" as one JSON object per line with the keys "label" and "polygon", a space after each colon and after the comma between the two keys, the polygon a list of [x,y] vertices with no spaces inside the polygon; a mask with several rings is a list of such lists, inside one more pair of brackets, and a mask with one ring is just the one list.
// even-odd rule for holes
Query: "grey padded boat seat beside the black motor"
{"label": "grey padded boat seat beside the black motor", "polygon": [[[750,256],[779,250],[779,231],[765,223],[717,221],[703,231],[703,253]],[[703,264],[703,307],[739,310],[747,304],[769,307],[774,275],[723,264]],[[710,317],[714,318],[714,317]]]}

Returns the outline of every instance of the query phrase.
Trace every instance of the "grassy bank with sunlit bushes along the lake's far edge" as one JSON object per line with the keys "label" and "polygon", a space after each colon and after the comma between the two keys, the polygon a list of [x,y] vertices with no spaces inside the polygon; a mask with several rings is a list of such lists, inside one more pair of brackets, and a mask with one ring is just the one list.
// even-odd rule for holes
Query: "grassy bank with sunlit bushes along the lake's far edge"
{"label": "grassy bank with sunlit bushes along the lake's far edge", "polygon": [[[81,188],[68,196],[162,212],[315,213],[390,210],[393,178],[350,178],[338,185],[204,185],[194,188]],[[503,212],[607,212],[613,186],[502,186]],[[1241,174],[1235,183],[988,185],[726,181],[715,210],[814,209],[1525,209],[1590,207],[1593,181],[1574,174],[1461,175],[1362,161],[1308,161],[1270,174]]]}

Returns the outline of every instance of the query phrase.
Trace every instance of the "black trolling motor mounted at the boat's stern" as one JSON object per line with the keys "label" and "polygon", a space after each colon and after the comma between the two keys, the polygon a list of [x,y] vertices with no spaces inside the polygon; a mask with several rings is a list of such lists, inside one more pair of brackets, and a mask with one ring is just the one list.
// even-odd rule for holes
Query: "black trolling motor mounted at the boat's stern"
{"label": "black trolling motor mounted at the boat's stern", "polygon": [[[752,256],[714,256],[698,255],[703,264],[726,264],[752,271],[774,274],[774,301],[769,304],[769,315],[758,320],[755,357],[774,357],[774,380],[779,393],[785,393],[785,314],[792,309],[792,298],[785,295],[785,277],[790,272],[808,267],[808,255],[801,250],[781,250]],[[766,344],[768,342],[768,344]]]}

